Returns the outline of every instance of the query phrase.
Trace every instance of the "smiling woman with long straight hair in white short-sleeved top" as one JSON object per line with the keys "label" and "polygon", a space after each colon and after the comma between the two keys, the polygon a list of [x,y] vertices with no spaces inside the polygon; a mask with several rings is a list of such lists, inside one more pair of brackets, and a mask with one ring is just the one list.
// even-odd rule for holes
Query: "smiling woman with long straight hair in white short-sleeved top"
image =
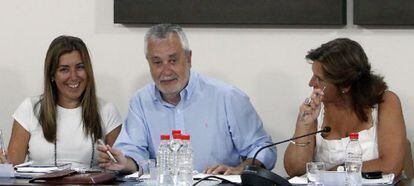
{"label": "smiling woman with long straight hair in white short-sleeved top", "polygon": [[44,65],[43,94],[27,98],[13,114],[8,147],[13,164],[72,163],[97,166],[96,141],[112,145],[121,128],[113,104],[97,98],[85,43],[72,36],[52,41]]}

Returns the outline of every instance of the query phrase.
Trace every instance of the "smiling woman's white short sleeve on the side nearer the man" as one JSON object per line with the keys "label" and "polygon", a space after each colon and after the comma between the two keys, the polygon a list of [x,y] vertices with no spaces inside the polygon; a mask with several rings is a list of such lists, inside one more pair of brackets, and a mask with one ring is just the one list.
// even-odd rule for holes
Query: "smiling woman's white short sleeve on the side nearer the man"
{"label": "smiling woman's white short sleeve on the side nearer the man", "polygon": [[106,103],[103,105],[101,108],[101,119],[104,135],[112,132],[112,130],[122,124],[121,115],[112,103]]}

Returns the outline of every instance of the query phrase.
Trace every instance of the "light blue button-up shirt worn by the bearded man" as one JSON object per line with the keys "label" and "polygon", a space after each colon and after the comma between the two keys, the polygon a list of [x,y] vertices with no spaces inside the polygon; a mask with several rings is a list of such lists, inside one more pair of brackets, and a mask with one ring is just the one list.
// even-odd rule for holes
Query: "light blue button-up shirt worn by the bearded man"
{"label": "light blue button-up shirt worn by the bearded man", "polygon": [[[174,106],[162,100],[155,84],[138,90],[115,147],[140,162],[155,159],[161,134],[180,129],[190,134],[194,169],[224,164],[235,167],[272,143],[249,97],[234,86],[191,71],[190,80]],[[261,151],[257,159],[267,169],[276,162],[276,148]]]}

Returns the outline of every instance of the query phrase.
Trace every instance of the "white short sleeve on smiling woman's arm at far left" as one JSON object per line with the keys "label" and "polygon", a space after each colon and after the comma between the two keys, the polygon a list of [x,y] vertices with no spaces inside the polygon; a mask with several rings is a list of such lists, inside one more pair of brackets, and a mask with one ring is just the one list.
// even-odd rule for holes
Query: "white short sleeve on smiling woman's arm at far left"
{"label": "white short sleeve on smiling woman's arm at far left", "polygon": [[31,98],[26,98],[14,111],[13,119],[16,120],[24,129],[31,133],[36,128],[37,117],[33,111]]}

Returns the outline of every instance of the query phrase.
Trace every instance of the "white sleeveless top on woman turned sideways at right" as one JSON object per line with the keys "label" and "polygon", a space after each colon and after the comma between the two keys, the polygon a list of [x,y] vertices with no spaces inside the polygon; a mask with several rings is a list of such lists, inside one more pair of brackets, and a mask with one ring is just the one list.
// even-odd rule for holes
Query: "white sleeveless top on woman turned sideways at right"
{"label": "white sleeveless top on woman turned sideways at right", "polygon": [[[321,114],[318,117],[318,130],[321,130],[324,117],[322,105]],[[377,125],[378,106],[372,109],[372,127],[359,132],[359,143],[362,147],[362,161],[378,158]],[[316,135],[316,149],[314,161],[325,162],[327,170],[345,163],[345,149],[349,137],[338,140],[327,140],[321,135]]]}

